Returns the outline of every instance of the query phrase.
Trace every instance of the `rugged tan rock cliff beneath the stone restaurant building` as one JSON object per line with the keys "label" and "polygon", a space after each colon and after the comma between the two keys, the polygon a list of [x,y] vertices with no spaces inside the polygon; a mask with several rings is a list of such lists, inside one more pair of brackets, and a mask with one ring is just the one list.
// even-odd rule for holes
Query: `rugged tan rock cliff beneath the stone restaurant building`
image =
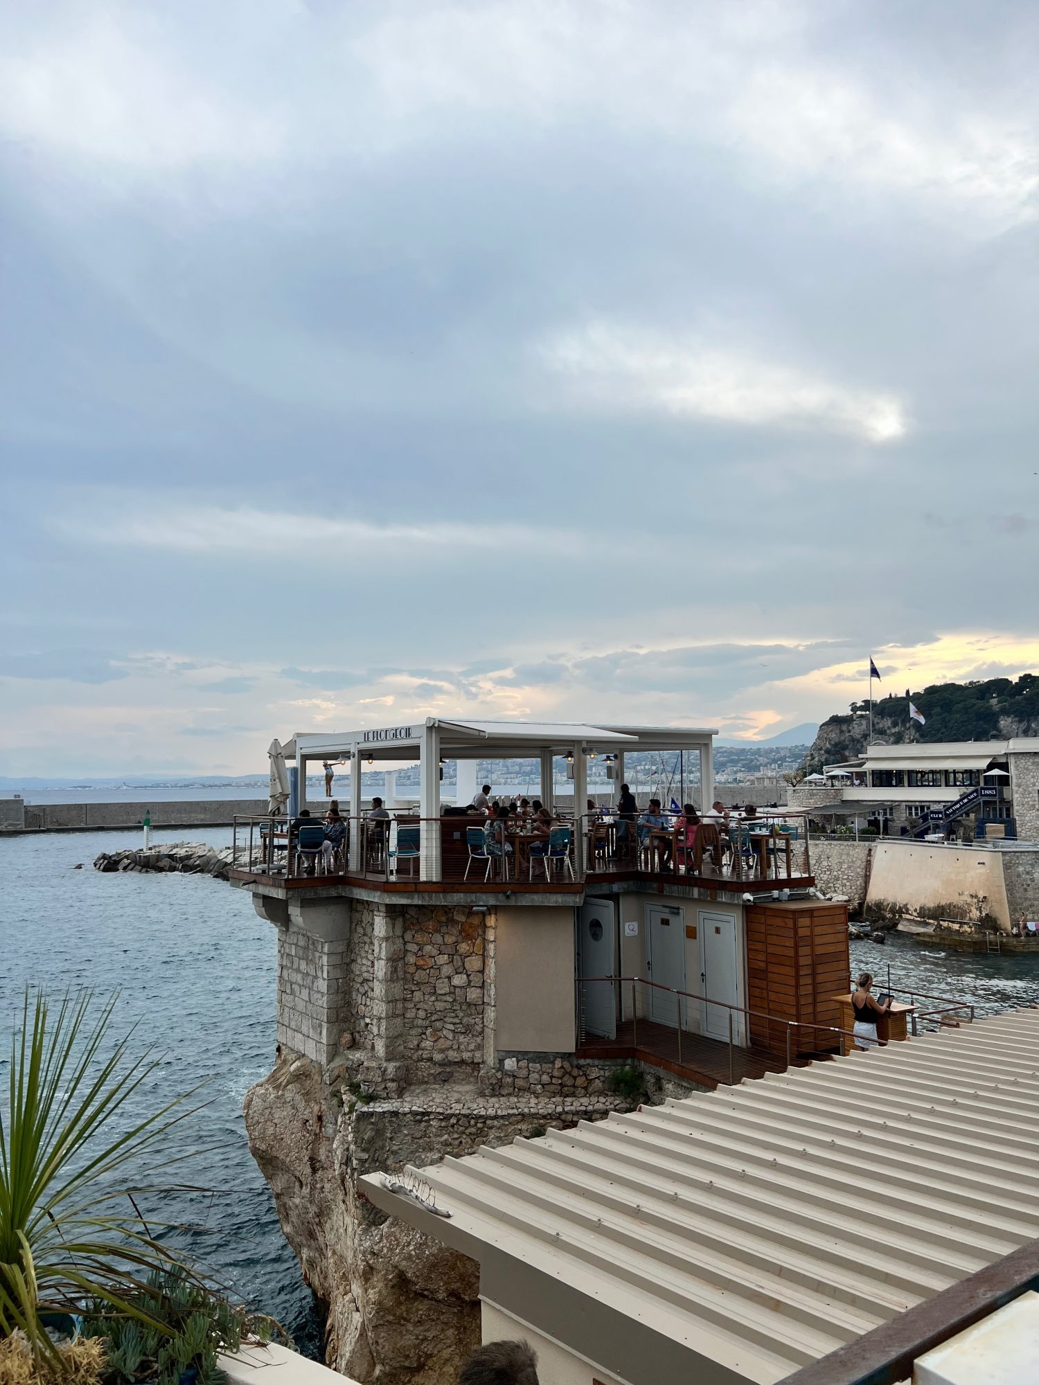
{"label": "rugged tan rock cliff beneath the stone restaurant building", "polygon": [[[360,1057],[360,1055],[359,1055]],[[479,1342],[479,1270],[357,1192],[366,1173],[603,1119],[608,1094],[481,1096],[460,1083],[367,1097],[362,1069],[280,1054],[245,1097],[249,1148],[285,1240],[327,1314],[326,1360],[366,1385],[454,1385]]]}

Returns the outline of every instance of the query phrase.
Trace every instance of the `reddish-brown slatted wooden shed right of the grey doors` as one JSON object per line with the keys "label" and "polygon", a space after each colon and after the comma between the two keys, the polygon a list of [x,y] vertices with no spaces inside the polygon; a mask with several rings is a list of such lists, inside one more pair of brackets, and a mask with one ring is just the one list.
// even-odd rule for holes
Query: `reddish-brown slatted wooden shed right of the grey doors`
{"label": "reddish-brown slatted wooden shed right of the grey doors", "polygon": [[[767,900],[747,907],[747,1004],[751,1043],[787,1051],[787,1026],[840,1026],[834,997],[848,989],[848,906],[828,900]],[[840,1036],[822,1029],[791,1030],[791,1054],[833,1053]]]}

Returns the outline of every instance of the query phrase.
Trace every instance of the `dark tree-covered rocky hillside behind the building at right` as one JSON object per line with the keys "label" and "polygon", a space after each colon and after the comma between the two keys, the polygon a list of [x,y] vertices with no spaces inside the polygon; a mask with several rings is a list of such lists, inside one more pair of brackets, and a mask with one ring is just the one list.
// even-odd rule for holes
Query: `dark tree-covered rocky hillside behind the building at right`
{"label": "dark tree-covered rocky hillside behind the building at right", "polygon": [[[927,724],[910,722],[905,694],[889,694],[873,704],[874,742],[999,741],[1011,735],[1039,735],[1039,677],[1035,673],[1022,673],[1017,681],[932,683],[909,697]],[[852,702],[849,712],[823,722],[803,759],[806,773],[862,755],[869,737],[867,709],[866,702]]]}

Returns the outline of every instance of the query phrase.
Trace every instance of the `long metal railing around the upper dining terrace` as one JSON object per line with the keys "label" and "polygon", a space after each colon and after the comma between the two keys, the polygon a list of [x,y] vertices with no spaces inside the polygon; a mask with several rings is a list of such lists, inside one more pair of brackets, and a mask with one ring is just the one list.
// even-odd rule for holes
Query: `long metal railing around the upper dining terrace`
{"label": "long metal railing around the upper dining terrace", "polygon": [[647,874],[781,895],[785,885],[803,885],[810,874],[798,814],[730,830],[705,821],[695,832],[671,813],[647,821],[646,814],[622,819],[608,812],[574,817],[560,810],[536,820],[464,813],[425,819],[403,810],[335,823],[319,816],[237,814],[233,841],[233,870],[285,879],[423,878],[477,888],[579,885],[589,877]]}

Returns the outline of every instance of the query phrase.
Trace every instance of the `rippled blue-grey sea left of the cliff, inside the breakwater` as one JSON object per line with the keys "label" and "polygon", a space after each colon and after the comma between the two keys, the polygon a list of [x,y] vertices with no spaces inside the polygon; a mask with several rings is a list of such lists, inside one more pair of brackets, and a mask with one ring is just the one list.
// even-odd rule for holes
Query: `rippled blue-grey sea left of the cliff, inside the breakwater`
{"label": "rippled blue-grey sea left of the cliff, inside the breakwater", "polygon": [[[154,834],[170,842],[186,835],[184,828]],[[231,834],[193,828],[190,839],[224,846]],[[140,1021],[133,1043],[155,1044],[162,1057],[136,1114],[206,1083],[199,1096],[206,1105],[179,1141],[208,1152],[158,1176],[130,1174],[205,1191],[152,1195],[151,1215],[181,1227],[172,1235],[179,1245],[317,1355],[310,1294],[241,1116],[245,1090],[274,1058],[274,929],[256,917],[248,895],[223,881],[93,868],[98,852],[140,843],[137,831],[0,841],[0,1082],[6,1089],[7,1035],[26,983],[51,994],[90,986],[107,996],[118,988],[118,1028]],[[78,861],[83,870],[73,868]]]}

